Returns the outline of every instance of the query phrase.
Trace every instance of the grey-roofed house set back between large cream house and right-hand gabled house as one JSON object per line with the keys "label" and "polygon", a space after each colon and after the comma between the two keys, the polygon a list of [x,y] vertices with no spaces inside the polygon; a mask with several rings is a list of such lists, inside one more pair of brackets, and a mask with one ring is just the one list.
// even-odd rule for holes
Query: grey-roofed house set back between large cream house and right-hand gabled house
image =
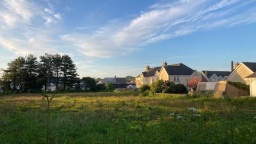
{"label": "grey-roofed house set back between large cream house and right-hand gabled house", "polygon": [[218,82],[218,81],[227,81],[231,72],[202,70],[199,73],[203,77],[203,82]]}

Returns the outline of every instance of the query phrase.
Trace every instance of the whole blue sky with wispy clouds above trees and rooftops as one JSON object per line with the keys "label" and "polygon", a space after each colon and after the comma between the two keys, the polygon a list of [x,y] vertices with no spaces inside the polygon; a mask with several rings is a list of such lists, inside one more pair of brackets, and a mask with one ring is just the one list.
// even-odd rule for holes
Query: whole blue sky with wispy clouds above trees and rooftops
{"label": "whole blue sky with wispy clouds above trees and rooftops", "polygon": [[0,0],[0,68],[29,53],[68,54],[79,77],[137,76],[184,63],[256,62],[256,0]]}

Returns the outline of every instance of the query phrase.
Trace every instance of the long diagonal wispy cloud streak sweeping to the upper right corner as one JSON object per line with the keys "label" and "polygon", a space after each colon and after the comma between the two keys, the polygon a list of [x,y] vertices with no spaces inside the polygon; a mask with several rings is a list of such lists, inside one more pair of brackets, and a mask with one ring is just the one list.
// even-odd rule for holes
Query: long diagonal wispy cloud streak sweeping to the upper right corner
{"label": "long diagonal wispy cloud streak sweeping to the upper right corner", "polygon": [[252,4],[255,1],[180,0],[157,3],[124,25],[121,24],[124,21],[111,21],[92,34],[66,34],[61,39],[85,55],[109,58],[197,30],[254,22],[256,10],[250,6]]}

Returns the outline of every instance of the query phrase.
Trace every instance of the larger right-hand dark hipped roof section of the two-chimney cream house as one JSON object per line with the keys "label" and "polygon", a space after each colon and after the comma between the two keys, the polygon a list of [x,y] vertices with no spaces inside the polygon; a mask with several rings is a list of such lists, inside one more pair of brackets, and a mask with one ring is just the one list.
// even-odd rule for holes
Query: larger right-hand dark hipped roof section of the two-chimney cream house
{"label": "larger right-hand dark hipped roof section of the two-chimney cream house", "polygon": [[195,70],[187,67],[183,63],[168,65],[164,67],[168,75],[192,75]]}

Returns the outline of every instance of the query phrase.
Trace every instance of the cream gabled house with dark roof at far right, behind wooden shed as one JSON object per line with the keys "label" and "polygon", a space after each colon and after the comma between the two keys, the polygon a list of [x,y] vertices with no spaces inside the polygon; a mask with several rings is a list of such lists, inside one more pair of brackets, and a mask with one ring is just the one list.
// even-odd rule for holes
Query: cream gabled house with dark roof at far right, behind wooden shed
{"label": "cream gabled house with dark roof at far right, behind wooden shed", "polygon": [[246,77],[256,72],[256,62],[241,62],[235,64],[235,70],[229,75],[229,81],[250,84]]}

